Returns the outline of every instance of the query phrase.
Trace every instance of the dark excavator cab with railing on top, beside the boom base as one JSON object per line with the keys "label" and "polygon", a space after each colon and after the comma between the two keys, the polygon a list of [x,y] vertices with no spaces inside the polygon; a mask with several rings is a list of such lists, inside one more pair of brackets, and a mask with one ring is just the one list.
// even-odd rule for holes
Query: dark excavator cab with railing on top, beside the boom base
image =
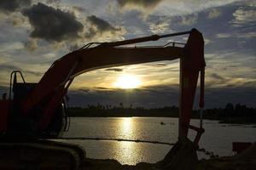
{"label": "dark excavator cab with railing on top, beside the boom base", "polygon": [[[18,78],[21,80],[18,82]],[[9,103],[9,116],[6,117],[8,122],[8,130],[4,133],[5,138],[22,138],[22,139],[37,139],[37,138],[57,138],[61,135],[65,127],[67,127],[67,114],[64,109],[64,104],[61,103],[55,111],[52,121],[44,132],[38,131],[37,120],[42,112],[44,104],[34,108],[33,114],[29,116],[22,115],[20,109],[20,101],[32,93],[38,83],[26,82],[21,71],[12,71],[9,84],[9,99],[6,100],[6,105]],[[44,102],[42,102],[44,103]]]}

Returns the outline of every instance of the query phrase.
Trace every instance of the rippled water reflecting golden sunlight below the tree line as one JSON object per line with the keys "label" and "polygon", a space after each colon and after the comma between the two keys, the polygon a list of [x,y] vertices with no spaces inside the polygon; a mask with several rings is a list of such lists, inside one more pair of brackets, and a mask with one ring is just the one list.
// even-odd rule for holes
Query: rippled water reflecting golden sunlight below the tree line
{"label": "rippled water reflecting golden sunlight below the tree line", "polygon": [[[70,129],[64,137],[108,138],[150,140],[167,143],[177,141],[177,118],[170,117],[73,117]],[[191,120],[191,124],[199,124]],[[204,120],[200,147],[218,156],[230,156],[232,142],[256,141],[256,128],[253,125],[219,124],[217,121]],[[189,131],[189,138],[195,133]],[[108,140],[68,140],[84,147],[90,158],[115,159],[121,164],[135,165],[138,162],[160,161],[172,148],[166,144],[148,144]],[[199,157],[207,157],[198,153]]]}

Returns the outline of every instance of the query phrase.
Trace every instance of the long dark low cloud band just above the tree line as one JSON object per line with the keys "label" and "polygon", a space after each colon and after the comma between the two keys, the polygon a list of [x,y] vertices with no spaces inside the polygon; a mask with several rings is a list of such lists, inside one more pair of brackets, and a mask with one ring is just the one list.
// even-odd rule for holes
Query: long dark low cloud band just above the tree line
{"label": "long dark low cloud band just above the tree line", "polygon": [[[143,89],[102,89],[95,88],[90,93],[79,93],[70,91],[70,105],[86,106],[96,105],[124,105],[143,106],[146,108],[163,107],[178,105],[179,90],[178,86],[159,86]],[[224,107],[227,103],[241,103],[250,107],[256,107],[256,87],[225,87],[225,88],[206,88],[205,101],[206,108]],[[195,106],[198,108],[199,96],[195,96]],[[154,104],[154,105],[153,105]]]}

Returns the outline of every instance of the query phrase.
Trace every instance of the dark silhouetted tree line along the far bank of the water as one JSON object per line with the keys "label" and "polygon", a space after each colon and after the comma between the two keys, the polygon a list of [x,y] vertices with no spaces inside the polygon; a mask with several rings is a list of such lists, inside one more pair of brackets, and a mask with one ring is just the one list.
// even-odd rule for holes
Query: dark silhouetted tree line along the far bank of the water
{"label": "dark silhouetted tree line along the far bank of the water", "polygon": [[[162,116],[178,117],[179,108],[175,105],[160,108],[134,107],[133,105],[87,105],[86,107],[71,107],[70,116]],[[199,118],[200,111],[193,110],[192,118]],[[227,123],[256,123],[256,109],[247,105],[228,103],[224,108],[205,109],[203,117]]]}

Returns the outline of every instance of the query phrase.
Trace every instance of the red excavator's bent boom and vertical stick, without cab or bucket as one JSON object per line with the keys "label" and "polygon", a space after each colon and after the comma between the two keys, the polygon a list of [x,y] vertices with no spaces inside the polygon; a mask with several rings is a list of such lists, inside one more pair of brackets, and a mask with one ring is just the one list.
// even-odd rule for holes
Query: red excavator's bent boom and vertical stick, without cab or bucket
{"label": "red excavator's bent boom and vertical stick, without cab or bucket", "polygon": [[[186,32],[188,33],[188,32]],[[179,34],[178,34],[179,35]],[[150,39],[150,38],[149,38]],[[154,40],[154,38],[153,38]],[[139,39],[139,42],[142,42]],[[134,41],[128,41],[131,43]],[[22,102],[24,114],[30,114],[32,109],[47,100],[40,128],[45,129],[57,105],[67,93],[67,88],[73,78],[86,71],[119,65],[140,64],[160,60],[181,59],[180,75],[180,128],[179,137],[187,136],[190,115],[195,98],[196,83],[199,72],[205,67],[204,42],[201,33],[195,29],[189,31],[186,45],[181,47],[142,47],[119,48],[116,46],[125,42],[103,43],[94,48],[81,48],[55,61],[38,86]],[[45,103],[45,101],[44,101]]]}

